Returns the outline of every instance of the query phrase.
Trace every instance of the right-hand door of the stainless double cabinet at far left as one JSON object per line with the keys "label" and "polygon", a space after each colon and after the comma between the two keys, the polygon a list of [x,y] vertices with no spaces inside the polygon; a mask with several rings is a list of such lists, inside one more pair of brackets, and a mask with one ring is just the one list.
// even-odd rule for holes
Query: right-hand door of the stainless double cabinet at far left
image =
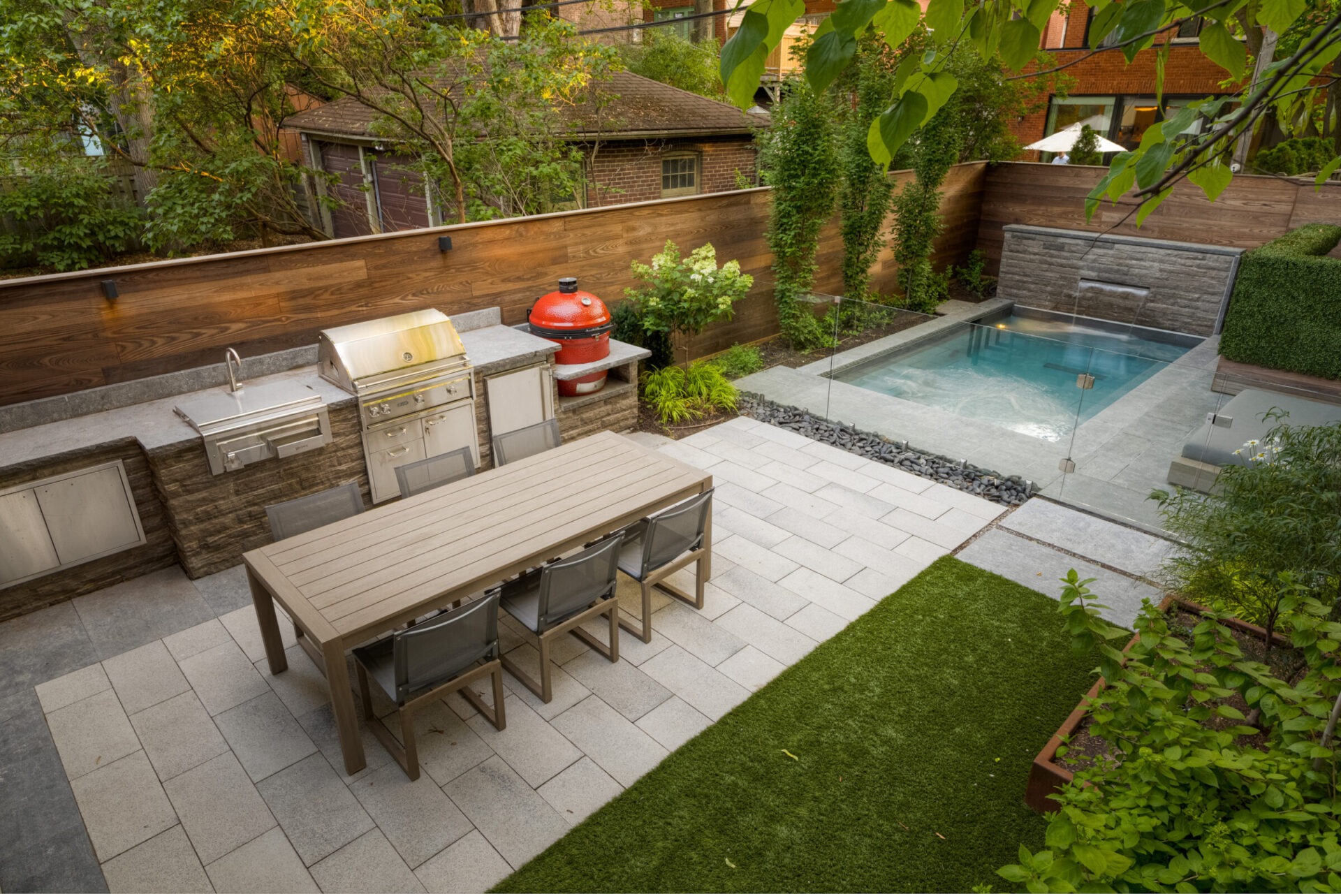
{"label": "right-hand door of the stainless double cabinet at far left", "polygon": [[36,493],[60,564],[143,541],[118,466],[52,481],[39,487]]}

